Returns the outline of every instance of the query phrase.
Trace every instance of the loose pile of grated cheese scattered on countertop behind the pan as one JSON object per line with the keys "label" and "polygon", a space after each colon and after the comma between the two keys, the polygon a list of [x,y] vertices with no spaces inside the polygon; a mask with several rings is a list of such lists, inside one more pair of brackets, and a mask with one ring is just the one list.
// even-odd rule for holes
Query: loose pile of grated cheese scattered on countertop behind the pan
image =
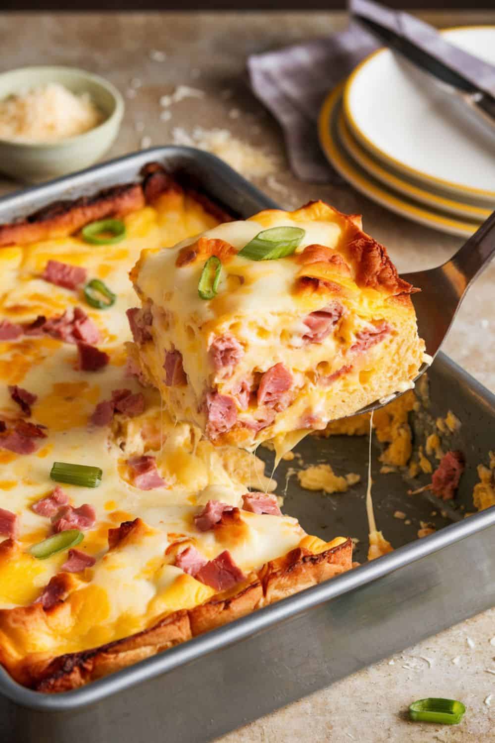
{"label": "loose pile of grated cheese scattered on countertop behind the pan", "polygon": [[195,126],[191,134],[176,126],[172,131],[174,144],[197,147],[212,152],[246,178],[265,178],[276,170],[274,158],[233,137],[228,129],[203,129]]}

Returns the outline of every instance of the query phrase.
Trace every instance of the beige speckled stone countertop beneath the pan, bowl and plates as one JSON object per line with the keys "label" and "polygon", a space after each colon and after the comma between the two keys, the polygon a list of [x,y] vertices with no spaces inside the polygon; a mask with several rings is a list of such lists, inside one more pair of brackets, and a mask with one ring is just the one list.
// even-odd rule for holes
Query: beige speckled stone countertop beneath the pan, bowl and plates
{"label": "beige speckled stone countertop beneath the pan, bowl and plates", "polygon": [[[430,12],[422,17],[439,26],[495,23],[495,12]],[[346,23],[344,13],[10,13],[0,16],[0,70],[63,64],[114,82],[125,96],[126,111],[107,158],[172,143],[177,128],[189,134],[194,126],[229,129],[277,158],[275,178],[255,183],[283,207],[323,198],[341,211],[362,213],[365,229],[387,245],[399,270],[439,265],[459,247],[459,238],[394,215],[350,186],[296,181],[287,168],[277,124],[246,86],[249,53],[322,36]],[[160,97],[177,85],[199,88],[203,97],[174,103],[160,118],[165,110]],[[19,184],[0,181],[0,193],[18,188]],[[465,299],[444,345],[454,360],[493,391],[494,286],[492,264]],[[494,672],[495,610],[491,610],[229,733],[221,742],[495,741]],[[407,705],[427,696],[462,699],[468,707],[462,724],[408,722]]]}

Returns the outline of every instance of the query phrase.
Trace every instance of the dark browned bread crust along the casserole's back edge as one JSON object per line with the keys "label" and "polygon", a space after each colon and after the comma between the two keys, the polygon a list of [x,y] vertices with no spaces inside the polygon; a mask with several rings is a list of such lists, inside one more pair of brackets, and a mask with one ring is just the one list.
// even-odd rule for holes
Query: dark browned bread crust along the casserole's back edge
{"label": "dark browned bread crust along the casserole's back edge", "polygon": [[[99,219],[121,218],[146,204],[153,204],[166,192],[182,192],[180,184],[168,175],[160,163],[147,163],[140,172],[140,183],[122,184],[103,189],[94,196],[55,201],[47,207],[9,224],[0,224],[0,247],[27,245],[73,235]],[[232,215],[214,204],[206,195],[186,188],[203,208],[220,221],[231,221]]]}

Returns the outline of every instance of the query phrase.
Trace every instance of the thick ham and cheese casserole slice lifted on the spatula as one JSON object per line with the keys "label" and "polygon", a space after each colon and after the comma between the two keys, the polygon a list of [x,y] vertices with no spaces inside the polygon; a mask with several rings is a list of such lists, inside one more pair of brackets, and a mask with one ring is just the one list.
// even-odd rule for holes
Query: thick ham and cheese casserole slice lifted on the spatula
{"label": "thick ham and cheese casserole slice lifted on the spatula", "polygon": [[[275,227],[292,230],[268,237],[296,234],[298,245],[282,239],[271,255],[289,254],[260,260],[266,233],[254,252],[252,241]],[[212,256],[220,280],[202,299]],[[295,443],[407,389],[422,363],[413,287],[358,216],[321,201],[144,251],[131,279],[142,302],[128,312],[131,357],[171,415],[215,444]]]}

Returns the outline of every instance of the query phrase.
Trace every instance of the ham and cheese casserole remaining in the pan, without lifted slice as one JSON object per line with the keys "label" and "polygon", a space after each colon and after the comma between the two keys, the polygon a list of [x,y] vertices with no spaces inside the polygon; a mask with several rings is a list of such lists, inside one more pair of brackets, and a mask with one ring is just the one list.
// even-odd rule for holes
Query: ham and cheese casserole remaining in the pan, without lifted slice
{"label": "ham and cheese casserole remaining in the pan, without lifted slice", "polygon": [[[128,271],[212,230],[204,203],[154,164],[0,226],[0,661],[33,689],[73,689],[352,565],[350,539],[306,535],[260,460],[172,421],[128,363]],[[123,239],[83,238],[109,217]],[[88,303],[94,279],[113,305]],[[53,481],[54,462],[101,482]]]}

